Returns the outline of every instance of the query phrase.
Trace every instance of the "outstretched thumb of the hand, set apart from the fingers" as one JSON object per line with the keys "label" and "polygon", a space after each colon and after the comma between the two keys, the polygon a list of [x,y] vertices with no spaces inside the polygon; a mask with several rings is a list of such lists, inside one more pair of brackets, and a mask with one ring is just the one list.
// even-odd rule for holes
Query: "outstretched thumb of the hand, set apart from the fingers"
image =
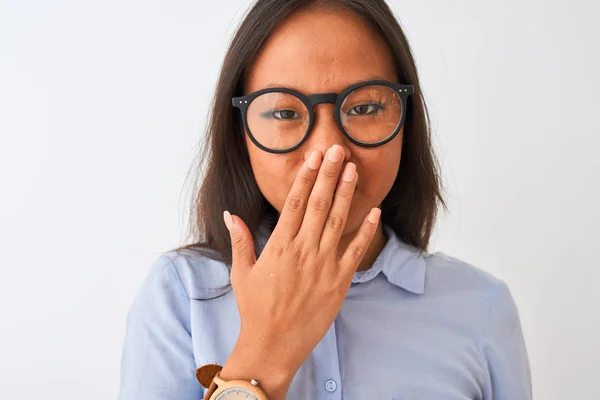
{"label": "outstretched thumb of the hand, set apart from the fingers", "polygon": [[245,276],[256,264],[252,235],[244,221],[236,215],[231,215],[227,210],[223,212],[223,220],[231,237],[231,273],[241,273]]}

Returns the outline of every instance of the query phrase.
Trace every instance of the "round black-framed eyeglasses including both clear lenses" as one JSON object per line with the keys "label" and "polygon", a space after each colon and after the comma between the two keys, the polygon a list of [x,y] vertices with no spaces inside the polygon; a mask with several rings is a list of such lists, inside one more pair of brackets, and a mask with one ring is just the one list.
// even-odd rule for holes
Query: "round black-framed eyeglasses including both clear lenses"
{"label": "round black-framed eyeglasses including both clear lenses", "polygon": [[354,84],[340,94],[305,96],[288,88],[267,88],[233,97],[231,101],[241,110],[252,142],[264,151],[279,154],[302,145],[315,121],[313,107],[321,103],[335,105],[335,120],[352,143],[381,146],[400,131],[408,96],[413,93],[413,85],[370,80]]}

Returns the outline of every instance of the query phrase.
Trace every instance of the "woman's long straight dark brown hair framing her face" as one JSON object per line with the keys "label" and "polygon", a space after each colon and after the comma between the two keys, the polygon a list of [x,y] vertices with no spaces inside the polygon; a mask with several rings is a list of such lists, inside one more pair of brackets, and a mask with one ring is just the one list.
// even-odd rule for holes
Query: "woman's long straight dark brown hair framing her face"
{"label": "woman's long straight dark brown hair framing her face", "polygon": [[415,61],[402,28],[384,0],[257,0],[254,3],[226,53],[206,141],[190,170],[195,177],[188,231],[188,241],[191,239],[192,243],[175,250],[194,250],[231,265],[231,240],[223,222],[224,210],[244,220],[253,233],[255,247],[261,221],[266,221],[271,229],[277,224],[277,210],[262,195],[254,179],[240,134],[244,129],[241,117],[232,107],[231,98],[242,95],[247,68],[277,25],[295,10],[308,6],[335,7],[367,20],[387,41],[394,55],[398,81],[415,86],[415,93],[408,101],[398,176],[381,204],[381,221],[405,243],[427,250],[438,205],[446,210],[447,207]]}

